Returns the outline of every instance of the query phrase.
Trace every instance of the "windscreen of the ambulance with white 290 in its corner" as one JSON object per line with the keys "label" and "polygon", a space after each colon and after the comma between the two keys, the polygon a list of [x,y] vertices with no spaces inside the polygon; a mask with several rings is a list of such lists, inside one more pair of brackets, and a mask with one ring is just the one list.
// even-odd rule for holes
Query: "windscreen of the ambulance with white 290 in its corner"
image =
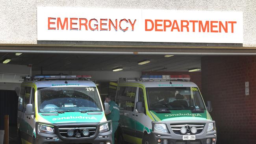
{"label": "windscreen of the ambulance with white 290 in its corner", "polygon": [[102,111],[96,87],[38,88],[39,113]]}

